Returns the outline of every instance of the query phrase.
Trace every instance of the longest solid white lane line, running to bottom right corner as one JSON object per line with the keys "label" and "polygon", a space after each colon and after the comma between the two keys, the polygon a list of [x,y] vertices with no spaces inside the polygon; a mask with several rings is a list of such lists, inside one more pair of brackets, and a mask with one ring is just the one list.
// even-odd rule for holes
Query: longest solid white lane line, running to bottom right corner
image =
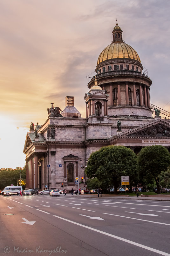
{"label": "longest solid white lane line, running to bottom right corner", "polygon": [[104,231],[101,231],[101,230],[98,230],[98,229],[94,229],[94,228],[85,226],[85,225],[80,224],[80,223],[75,222],[75,221],[67,220],[67,219],[62,218],[62,217],[59,217],[59,216],[57,216],[57,215],[53,215],[53,216],[56,217],[56,218],[59,218],[59,219],[61,219],[61,220],[64,220],[64,221],[68,221],[68,222],[70,222],[70,223],[72,223],[72,224],[78,225],[78,226],[80,226],[80,227],[83,227],[83,228],[86,228],[86,229],[90,229],[90,230],[92,230],[92,231],[98,232],[98,233],[100,233],[100,234],[103,234],[103,235],[106,235],[106,236],[109,236],[109,237],[113,237],[113,238],[115,238],[115,239],[118,239],[118,240],[120,240],[120,241],[126,242],[126,243],[128,243],[128,244],[132,244],[132,245],[141,247],[141,248],[146,249],[146,250],[148,250],[148,251],[156,252],[156,253],[159,253],[159,254],[161,254],[161,255],[163,255],[163,256],[170,256],[170,254],[167,253],[167,252],[162,252],[162,251],[156,250],[156,249],[154,249],[154,248],[148,247],[148,246],[146,246],[146,245],[135,243],[135,242],[133,242],[133,241],[131,241],[131,240],[127,240],[127,239],[125,239],[125,238],[118,237],[118,236],[115,236],[115,235],[106,233],[106,232],[104,232]]}

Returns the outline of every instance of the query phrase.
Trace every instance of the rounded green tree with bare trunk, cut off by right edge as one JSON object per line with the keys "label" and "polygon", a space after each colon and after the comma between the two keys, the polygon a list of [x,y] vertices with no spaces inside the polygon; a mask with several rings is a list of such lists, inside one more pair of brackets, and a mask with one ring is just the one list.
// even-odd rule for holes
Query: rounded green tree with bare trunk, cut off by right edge
{"label": "rounded green tree with bare trunk, cut off by right edge", "polygon": [[147,146],[138,153],[139,177],[148,183],[153,183],[154,178],[157,194],[160,194],[160,173],[167,171],[169,165],[169,151],[161,145]]}

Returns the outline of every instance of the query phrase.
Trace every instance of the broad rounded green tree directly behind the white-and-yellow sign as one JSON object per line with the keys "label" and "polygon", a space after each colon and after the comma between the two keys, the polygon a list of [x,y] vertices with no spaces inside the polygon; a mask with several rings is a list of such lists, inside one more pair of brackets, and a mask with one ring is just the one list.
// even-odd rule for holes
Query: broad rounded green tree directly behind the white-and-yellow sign
{"label": "broad rounded green tree directly behind the white-and-yellow sign", "polygon": [[133,180],[137,173],[137,156],[124,146],[102,147],[90,155],[85,172],[90,178],[97,178],[103,187],[114,186],[117,194],[121,176],[130,176]]}

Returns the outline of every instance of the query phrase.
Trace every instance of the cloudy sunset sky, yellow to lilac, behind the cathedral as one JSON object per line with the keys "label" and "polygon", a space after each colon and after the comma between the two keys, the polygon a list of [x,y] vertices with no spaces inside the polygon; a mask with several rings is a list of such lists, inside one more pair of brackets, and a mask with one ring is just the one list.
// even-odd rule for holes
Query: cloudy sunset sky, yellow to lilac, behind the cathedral
{"label": "cloudy sunset sky, yellow to lilac, behind the cathedral", "polygon": [[0,168],[24,167],[26,133],[65,97],[85,117],[87,83],[116,19],[139,54],[151,103],[170,112],[169,0],[0,0]]}

